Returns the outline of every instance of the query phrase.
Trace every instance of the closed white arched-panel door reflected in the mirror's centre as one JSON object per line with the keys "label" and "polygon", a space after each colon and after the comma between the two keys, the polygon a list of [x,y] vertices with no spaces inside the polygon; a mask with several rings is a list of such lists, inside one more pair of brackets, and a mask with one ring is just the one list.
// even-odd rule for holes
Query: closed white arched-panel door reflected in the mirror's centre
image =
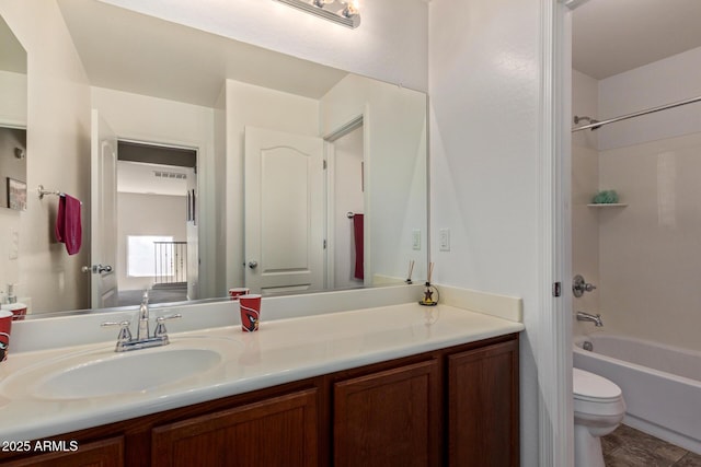
{"label": "closed white arched-panel door reflected in the mirror's centre", "polygon": [[275,293],[324,288],[323,140],[245,127],[245,284]]}

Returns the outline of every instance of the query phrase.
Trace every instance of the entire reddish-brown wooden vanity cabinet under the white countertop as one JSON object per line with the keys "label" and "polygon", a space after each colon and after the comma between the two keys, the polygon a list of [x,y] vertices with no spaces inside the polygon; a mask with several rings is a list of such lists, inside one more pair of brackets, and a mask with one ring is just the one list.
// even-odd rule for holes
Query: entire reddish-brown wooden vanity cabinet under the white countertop
{"label": "entire reddish-brown wooden vanity cabinet under the white countertop", "polygon": [[518,334],[54,436],[0,466],[512,467]]}

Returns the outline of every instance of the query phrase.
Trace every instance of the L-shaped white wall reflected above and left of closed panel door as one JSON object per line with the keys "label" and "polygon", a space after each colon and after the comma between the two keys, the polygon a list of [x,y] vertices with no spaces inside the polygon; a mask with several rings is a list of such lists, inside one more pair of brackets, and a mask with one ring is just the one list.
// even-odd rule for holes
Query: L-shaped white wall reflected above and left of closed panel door
{"label": "L-shaped white wall reflected above and left of closed panel door", "polygon": [[227,80],[226,83],[226,284],[243,278],[243,133],[246,125],[297,135],[319,136],[319,102]]}

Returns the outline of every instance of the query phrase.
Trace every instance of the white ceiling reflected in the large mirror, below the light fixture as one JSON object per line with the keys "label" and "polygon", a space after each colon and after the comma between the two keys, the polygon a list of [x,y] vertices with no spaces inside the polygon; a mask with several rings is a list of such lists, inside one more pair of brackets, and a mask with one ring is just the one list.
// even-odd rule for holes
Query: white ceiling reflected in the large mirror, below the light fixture
{"label": "white ceiling reflected in the large mirror, below the light fixture", "polygon": [[227,78],[319,98],[347,74],[96,0],[58,4],[99,87],[212,107]]}

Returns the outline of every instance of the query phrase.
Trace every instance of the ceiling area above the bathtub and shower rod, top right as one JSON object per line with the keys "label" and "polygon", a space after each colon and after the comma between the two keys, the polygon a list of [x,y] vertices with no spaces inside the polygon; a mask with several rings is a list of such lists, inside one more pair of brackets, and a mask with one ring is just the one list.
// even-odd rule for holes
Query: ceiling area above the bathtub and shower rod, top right
{"label": "ceiling area above the bathtub and shower rod, top right", "polygon": [[572,30],[573,68],[601,80],[701,47],[701,0],[589,0]]}

